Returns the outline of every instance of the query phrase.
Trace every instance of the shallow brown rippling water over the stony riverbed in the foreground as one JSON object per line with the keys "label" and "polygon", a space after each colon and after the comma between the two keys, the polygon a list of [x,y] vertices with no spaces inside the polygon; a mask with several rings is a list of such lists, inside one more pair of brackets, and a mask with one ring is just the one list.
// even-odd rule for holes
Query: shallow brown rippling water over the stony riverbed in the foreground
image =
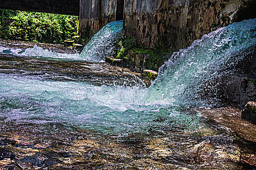
{"label": "shallow brown rippling water over the stony riverbed in the foreground", "polygon": [[200,113],[208,128],[175,132],[184,138],[171,138],[175,128],[119,137],[63,123],[1,120],[1,170],[255,169],[256,126],[231,107]]}

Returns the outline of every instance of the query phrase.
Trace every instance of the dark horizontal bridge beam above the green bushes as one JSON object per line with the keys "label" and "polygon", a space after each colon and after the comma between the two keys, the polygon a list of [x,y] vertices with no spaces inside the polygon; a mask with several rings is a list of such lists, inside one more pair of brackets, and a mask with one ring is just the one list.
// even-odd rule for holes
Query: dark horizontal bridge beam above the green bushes
{"label": "dark horizontal bridge beam above the green bushes", "polygon": [[80,0],[0,0],[0,9],[79,16]]}

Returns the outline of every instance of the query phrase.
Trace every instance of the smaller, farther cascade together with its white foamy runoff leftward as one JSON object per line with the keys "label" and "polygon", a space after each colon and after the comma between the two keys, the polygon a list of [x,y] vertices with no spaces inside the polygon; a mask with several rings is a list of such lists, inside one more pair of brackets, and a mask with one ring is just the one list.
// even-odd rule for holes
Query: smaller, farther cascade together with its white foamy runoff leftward
{"label": "smaller, farther cascade together with its white foamy runoff leftward", "polygon": [[35,45],[34,48],[29,48],[22,51],[21,49],[9,49],[0,47],[0,52],[17,56],[39,56],[44,58],[100,62],[104,60],[105,56],[113,55],[115,43],[118,39],[118,36],[122,33],[122,28],[122,20],[108,23],[91,38],[91,40],[85,45],[85,48],[80,55],[78,53],[59,53],[48,49],[43,49],[37,45]]}

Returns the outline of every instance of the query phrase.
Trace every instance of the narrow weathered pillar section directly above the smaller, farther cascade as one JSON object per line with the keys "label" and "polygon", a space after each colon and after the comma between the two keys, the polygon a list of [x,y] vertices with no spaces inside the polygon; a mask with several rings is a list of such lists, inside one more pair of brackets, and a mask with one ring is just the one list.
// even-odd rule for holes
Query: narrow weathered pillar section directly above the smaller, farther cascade
{"label": "narrow weathered pillar section directly above the smaller, farther cascade", "polygon": [[124,0],[80,0],[79,34],[90,37],[107,23],[123,18]]}

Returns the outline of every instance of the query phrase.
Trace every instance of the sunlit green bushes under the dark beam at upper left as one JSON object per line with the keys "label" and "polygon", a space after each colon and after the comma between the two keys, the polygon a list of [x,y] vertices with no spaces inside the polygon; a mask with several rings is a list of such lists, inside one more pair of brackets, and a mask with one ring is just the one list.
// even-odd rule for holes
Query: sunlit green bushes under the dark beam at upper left
{"label": "sunlit green bushes under the dark beam at upper left", "polygon": [[0,38],[63,44],[78,23],[76,16],[0,9]]}

